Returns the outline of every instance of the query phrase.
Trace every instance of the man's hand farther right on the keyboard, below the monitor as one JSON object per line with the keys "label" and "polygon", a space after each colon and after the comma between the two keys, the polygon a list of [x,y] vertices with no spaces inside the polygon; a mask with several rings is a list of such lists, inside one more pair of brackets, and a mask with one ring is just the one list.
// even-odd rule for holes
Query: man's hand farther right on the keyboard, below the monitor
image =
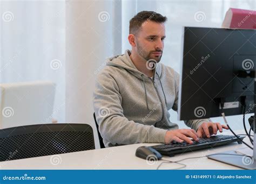
{"label": "man's hand farther right on the keyboard, below the monitor", "polygon": [[216,135],[218,130],[223,132],[223,129],[228,129],[226,125],[221,125],[220,123],[213,123],[213,122],[204,122],[199,126],[197,129],[197,134],[199,138],[207,137],[210,138],[211,135]]}

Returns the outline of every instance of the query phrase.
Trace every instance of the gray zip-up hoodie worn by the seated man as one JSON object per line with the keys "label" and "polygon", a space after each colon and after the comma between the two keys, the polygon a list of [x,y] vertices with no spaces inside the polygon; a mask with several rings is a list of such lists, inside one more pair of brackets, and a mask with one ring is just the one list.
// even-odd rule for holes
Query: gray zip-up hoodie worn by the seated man
{"label": "gray zip-up hoodie worn by the seated man", "polygon": [[[168,110],[177,111],[179,74],[157,64],[151,79],[133,65],[130,51],[109,59],[96,79],[93,93],[100,135],[106,147],[164,143],[167,130],[178,129]],[[210,119],[185,121],[197,130]]]}

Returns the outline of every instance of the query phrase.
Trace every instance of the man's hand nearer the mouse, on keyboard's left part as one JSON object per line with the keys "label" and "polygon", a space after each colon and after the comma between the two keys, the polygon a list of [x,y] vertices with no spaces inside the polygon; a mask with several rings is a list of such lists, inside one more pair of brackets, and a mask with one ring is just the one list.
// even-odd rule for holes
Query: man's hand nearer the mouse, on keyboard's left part
{"label": "man's hand nearer the mouse, on keyboard's left part", "polygon": [[198,141],[198,134],[193,129],[177,129],[177,130],[169,130],[165,134],[165,144],[170,144],[172,141],[177,141],[178,143],[183,143],[186,141],[189,144],[193,144],[193,141],[190,139],[194,139]]}

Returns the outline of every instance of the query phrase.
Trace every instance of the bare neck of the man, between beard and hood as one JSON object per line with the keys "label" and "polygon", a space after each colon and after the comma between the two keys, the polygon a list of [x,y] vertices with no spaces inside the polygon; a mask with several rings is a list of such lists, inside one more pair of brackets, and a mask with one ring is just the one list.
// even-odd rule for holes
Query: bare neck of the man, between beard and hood
{"label": "bare neck of the man, between beard and hood", "polygon": [[133,62],[133,65],[142,73],[144,73],[148,77],[153,76],[153,70],[147,69],[146,67],[146,60],[143,59],[138,54],[132,52],[130,55],[130,59]]}

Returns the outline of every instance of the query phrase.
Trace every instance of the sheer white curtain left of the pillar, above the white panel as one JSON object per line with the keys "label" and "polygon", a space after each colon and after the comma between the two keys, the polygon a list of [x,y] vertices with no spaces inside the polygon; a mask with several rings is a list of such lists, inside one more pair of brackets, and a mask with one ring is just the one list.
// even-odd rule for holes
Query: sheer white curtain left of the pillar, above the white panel
{"label": "sheer white curtain left of the pillar, above the white panel", "polygon": [[0,83],[55,82],[53,118],[65,122],[65,1],[1,1],[0,15]]}

